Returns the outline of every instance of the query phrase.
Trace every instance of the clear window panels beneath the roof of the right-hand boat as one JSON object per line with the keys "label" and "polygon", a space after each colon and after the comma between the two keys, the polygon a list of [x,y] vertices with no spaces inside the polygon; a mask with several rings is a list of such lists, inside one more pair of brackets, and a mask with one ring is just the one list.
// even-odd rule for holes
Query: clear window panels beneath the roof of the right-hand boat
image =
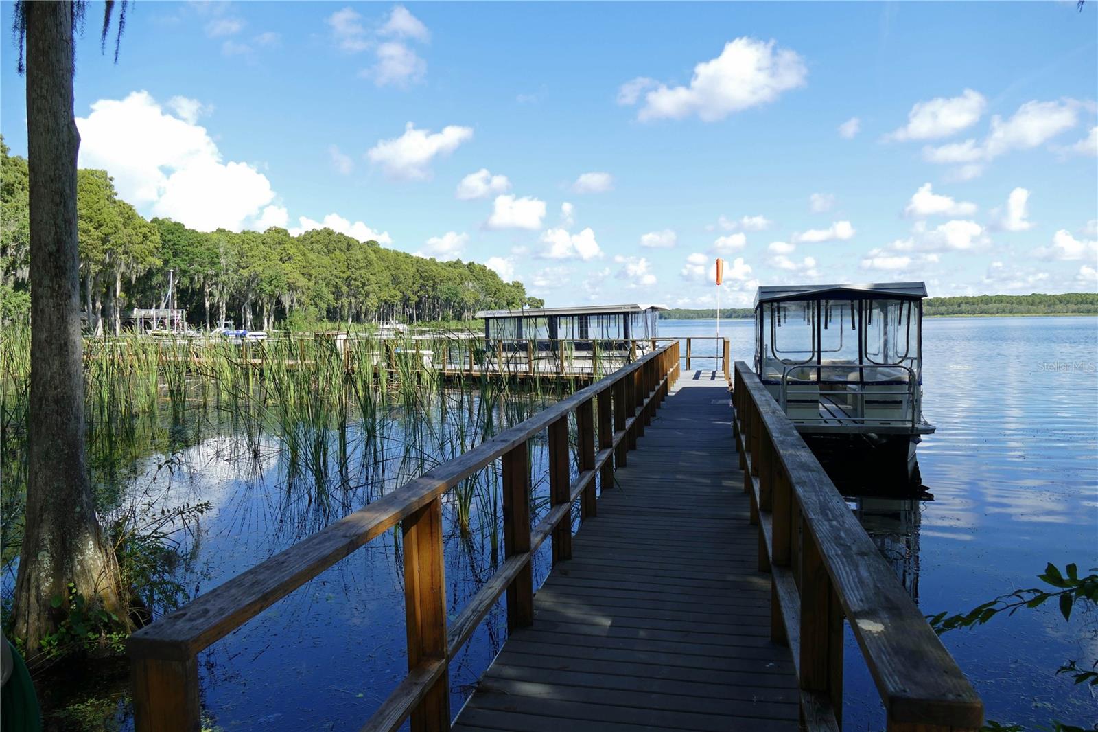
{"label": "clear window panels beneath the roof of the right-hand boat", "polygon": [[755,370],[770,382],[921,381],[921,318],[910,299],[762,302]]}

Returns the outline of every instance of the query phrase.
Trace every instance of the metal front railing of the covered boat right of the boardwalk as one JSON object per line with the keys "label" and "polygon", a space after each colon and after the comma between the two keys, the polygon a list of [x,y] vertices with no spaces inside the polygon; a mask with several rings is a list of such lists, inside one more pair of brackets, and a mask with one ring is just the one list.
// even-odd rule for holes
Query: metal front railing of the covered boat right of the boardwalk
{"label": "metal front railing of the covered boat right of the boardwalk", "polygon": [[[849,380],[826,380],[824,378],[824,370],[845,370],[845,371],[856,371],[858,379]],[[905,379],[869,379],[865,378],[866,371],[877,371],[878,374],[884,371],[884,369],[900,369],[906,373]],[[796,379],[791,378],[791,375],[800,370],[814,370],[817,373],[818,378],[816,379]],[[904,364],[795,364],[792,366],[786,366],[782,369],[782,380],[778,390],[777,403],[782,407],[782,411],[787,415],[789,414],[789,387],[793,386],[796,390],[803,387],[815,387],[820,389],[824,386],[838,386],[845,387],[842,391],[824,391],[819,390],[816,396],[818,404],[822,407],[827,414],[822,414],[817,407],[815,417],[811,415],[811,410],[809,413],[797,413],[796,415],[789,415],[791,419],[798,424],[825,424],[828,422],[837,422],[840,424],[860,424],[865,426],[871,425],[887,425],[895,426],[898,422],[908,423],[911,430],[916,430],[919,425],[922,409],[921,409],[921,395],[919,389],[918,379],[916,379],[915,370],[909,366]],[[871,390],[866,391],[866,387],[871,387]],[[794,393],[794,397],[804,396]],[[899,414],[883,414],[879,417],[867,417],[866,415],[866,404],[869,400],[873,401],[886,400],[894,401],[895,397],[900,397],[901,408]],[[852,410],[852,411],[851,411]],[[898,419],[897,419],[898,417]]]}

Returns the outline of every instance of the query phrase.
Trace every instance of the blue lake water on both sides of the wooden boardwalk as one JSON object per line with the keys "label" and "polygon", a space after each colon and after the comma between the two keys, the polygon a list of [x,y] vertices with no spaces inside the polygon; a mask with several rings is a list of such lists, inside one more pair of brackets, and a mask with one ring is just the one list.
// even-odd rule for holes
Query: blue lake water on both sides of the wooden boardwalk
{"label": "blue lake water on both sides of the wooden boardwalk", "polygon": [[[712,336],[715,326],[661,321],[660,335]],[[752,323],[720,328],[733,359],[750,362]],[[694,356],[713,355],[715,346],[695,342]],[[938,432],[920,445],[919,466],[933,500],[851,503],[923,612],[966,611],[1035,587],[1046,562],[1098,566],[1098,319],[928,319],[923,357],[923,411]],[[180,537],[186,562],[178,576],[195,595],[467,450],[485,425],[520,421],[545,400],[451,393],[426,411],[393,407],[373,434],[351,421],[345,442],[328,435],[312,458],[307,453],[291,465],[284,435],[242,436],[239,428],[203,417],[190,428],[158,428],[144,453],[150,456],[122,479],[138,502],[212,503],[198,531]],[[538,515],[546,510],[544,437],[533,464]],[[444,508],[451,618],[502,558],[498,476],[489,470],[467,488],[468,532],[458,518],[461,497],[451,492]],[[536,583],[548,572],[548,551],[547,542],[535,559]],[[405,674],[401,575],[390,532],[201,654],[206,727],[358,729]],[[504,642],[505,625],[497,605],[453,659],[455,710]],[[1089,687],[1055,676],[1068,659],[1083,666],[1098,657],[1094,613],[1077,612],[1067,623],[1052,606],[1023,610],[950,632],[943,642],[988,719],[1030,727],[1053,718],[1098,721]],[[844,675],[845,729],[883,729],[849,632]],[[124,708],[115,722],[132,729]]]}

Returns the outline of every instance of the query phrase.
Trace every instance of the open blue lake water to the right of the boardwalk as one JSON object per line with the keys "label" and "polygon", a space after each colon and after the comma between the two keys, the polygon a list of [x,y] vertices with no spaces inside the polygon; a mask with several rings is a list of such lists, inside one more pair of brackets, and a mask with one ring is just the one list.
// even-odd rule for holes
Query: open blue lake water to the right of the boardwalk
{"label": "open blue lake water to the right of the boardwalk", "polygon": [[[721,321],[733,361],[751,363],[751,321]],[[714,321],[661,321],[660,335],[712,336]],[[692,343],[714,352],[713,341]],[[704,364],[704,365],[703,365]],[[695,367],[709,367],[698,362]],[[919,445],[933,500],[918,515],[870,517],[926,614],[963,612],[1041,585],[1047,562],[1098,566],[1098,318],[928,318]],[[1056,669],[1098,658],[1098,618],[1055,603],[942,635],[987,718],[1027,728],[1098,723],[1090,687]],[[844,729],[882,729],[877,694],[848,631]]]}

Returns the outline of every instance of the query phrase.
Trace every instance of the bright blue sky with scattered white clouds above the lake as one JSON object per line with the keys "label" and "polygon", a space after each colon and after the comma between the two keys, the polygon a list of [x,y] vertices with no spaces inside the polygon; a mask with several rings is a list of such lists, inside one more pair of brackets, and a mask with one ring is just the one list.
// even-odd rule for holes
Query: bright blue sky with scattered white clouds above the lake
{"label": "bright blue sky with scattered white clouds above the lake", "polygon": [[717,256],[728,306],[1098,289],[1095,2],[138,2],[116,65],[99,15],[80,163],[146,215],[327,223],[550,304],[712,306]]}

